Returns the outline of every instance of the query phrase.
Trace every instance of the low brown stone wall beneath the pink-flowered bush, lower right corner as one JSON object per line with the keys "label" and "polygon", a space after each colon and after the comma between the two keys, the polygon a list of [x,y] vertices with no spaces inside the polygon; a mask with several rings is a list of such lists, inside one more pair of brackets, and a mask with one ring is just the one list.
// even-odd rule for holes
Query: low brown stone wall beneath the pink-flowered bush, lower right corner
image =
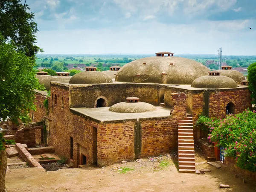
{"label": "low brown stone wall beneath the pink-flowered bush, lower right corner", "polygon": [[239,177],[249,180],[253,184],[256,184],[256,172],[250,172],[248,170],[241,169],[236,166],[236,160],[234,158],[225,157],[222,168],[233,171]]}

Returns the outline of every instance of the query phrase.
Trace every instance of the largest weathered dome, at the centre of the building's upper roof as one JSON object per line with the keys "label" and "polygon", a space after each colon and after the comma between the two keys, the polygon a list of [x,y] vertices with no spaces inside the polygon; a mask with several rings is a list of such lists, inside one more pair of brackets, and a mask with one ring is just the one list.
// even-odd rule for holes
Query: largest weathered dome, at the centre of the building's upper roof
{"label": "largest weathered dome, at the centre of the building's upper roof", "polygon": [[187,58],[148,57],[124,65],[117,73],[116,81],[159,84],[192,84],[205,76],[209,69]]}

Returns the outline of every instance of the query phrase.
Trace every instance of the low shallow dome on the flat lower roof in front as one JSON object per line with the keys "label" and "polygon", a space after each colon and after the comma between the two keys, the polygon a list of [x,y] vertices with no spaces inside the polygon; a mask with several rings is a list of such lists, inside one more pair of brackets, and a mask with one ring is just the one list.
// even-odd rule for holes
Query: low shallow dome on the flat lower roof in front
{"label": "low shallow dome on the flat lower roof in front", "polygon": [[144,102],[137,102],[137,103],[128,103],[128,102],[121,102],[112,105],[109,108],[109,111],[113,111],[116,113],[144,113],[149,111],[155,111],[157,108],[154,105]]}

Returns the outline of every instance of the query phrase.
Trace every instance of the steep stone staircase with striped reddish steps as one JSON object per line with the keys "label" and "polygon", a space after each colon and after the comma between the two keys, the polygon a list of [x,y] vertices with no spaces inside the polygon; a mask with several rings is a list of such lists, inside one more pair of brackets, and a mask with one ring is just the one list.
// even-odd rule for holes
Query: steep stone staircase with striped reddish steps
{"label": "steep stone staircase with striped reddish steps", "polygon": [[195,148],[192,115],[178,122],[178,158],[180,173],[195,173]]}

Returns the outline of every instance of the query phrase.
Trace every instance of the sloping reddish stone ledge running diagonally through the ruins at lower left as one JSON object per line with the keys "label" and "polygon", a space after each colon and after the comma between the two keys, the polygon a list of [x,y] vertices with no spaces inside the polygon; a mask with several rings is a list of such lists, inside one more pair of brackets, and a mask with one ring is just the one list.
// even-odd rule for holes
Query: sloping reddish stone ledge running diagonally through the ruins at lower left
{"label": "sloping reddish stone ledge running diagonally through the ruins at lower left", "polygon": [[37,168],[41,168],[44,169],[40,163],[38,163],[33,157],[32,155],[29,153],[29,151],[26,150],[26,148],[21,145],[20,143],[16,143],[15,145],[18,153],[20,154],[20,157],[23,158],[23,160],[25,160],[27,163],[29,163],[30,167],[37,167]]}

